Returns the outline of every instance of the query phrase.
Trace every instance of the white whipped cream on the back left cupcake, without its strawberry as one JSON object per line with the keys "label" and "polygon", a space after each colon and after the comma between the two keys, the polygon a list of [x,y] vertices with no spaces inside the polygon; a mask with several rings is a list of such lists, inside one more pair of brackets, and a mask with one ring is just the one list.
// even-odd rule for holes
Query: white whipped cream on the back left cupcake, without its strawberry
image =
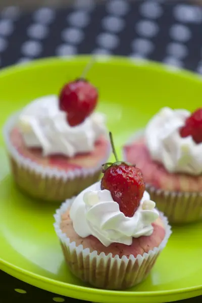
{"label": "white whipped cream on the back left cupcake, without its strawberry", "polygon": [[66,115],[60,110],[56,95],[33,100],[22,110],[18,121],[26,146],[42,148],[43,156],[74,157],[92,151],[98,137],[106,133],[105,115],[93,113],[73,127]]}

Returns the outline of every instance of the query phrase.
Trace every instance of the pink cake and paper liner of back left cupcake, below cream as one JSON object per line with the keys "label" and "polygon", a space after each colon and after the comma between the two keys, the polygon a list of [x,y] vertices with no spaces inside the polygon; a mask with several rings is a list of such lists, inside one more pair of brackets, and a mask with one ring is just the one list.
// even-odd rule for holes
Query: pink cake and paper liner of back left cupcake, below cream
{"label": "pink cake and paper liner of back left cupcake, below cream", "polygon": [[[43,157],[39,148],[27,148],[18,128],[10,133],[10,143],[20,159],[29,161],[22,166],[18,159],[9,153],[11,168],[16,184],[29,195],[48,201],[62,201],[77,195],[86,186],[99,179],[103,163],[109,158],[109,141],[100,136],[91,153],[79,154],[72,158],[61,155]],[[32,167],[45,175],[33,171]],[[65,177],[64,177],[65,176]]]}

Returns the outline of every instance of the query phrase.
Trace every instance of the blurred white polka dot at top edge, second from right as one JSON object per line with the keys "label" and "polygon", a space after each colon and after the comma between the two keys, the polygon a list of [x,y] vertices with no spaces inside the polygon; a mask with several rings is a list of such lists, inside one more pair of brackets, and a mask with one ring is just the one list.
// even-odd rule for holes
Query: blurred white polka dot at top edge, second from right
{"label": "blurred white polka dot at top edge, second from right", "polygon": [[163,10],[157,2],[151,0],[140,6],[140,14],[146,18],[157,19],[162,16]]}

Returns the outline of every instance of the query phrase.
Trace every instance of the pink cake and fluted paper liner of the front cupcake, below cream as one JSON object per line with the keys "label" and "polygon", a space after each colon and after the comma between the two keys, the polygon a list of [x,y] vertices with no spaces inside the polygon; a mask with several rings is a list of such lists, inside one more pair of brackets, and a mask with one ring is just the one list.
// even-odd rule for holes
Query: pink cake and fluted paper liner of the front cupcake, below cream
{"label": "pink cake and fluted paper liner of the front cupcake, below cream", "polygon": [[[106,246],[93,235],[81,237],[76,232],[76,222],[70,218],[72,202],[74,200],[67,200],[61,206],[55,215],[54,224],[71,272],[84,282],[105,289],[123,290],[146,279],[170,237],[167,218],[161,214],[151,224],[152,234],[133,237],[130,245],[123,244],[120,239],[120,242]],[[85,216],[85,210],[82,210],[82,217]],[[83,219],[80,217],[76,220],[76,224],[83,228]],[[132,229],[134,226],[131,226]]]}

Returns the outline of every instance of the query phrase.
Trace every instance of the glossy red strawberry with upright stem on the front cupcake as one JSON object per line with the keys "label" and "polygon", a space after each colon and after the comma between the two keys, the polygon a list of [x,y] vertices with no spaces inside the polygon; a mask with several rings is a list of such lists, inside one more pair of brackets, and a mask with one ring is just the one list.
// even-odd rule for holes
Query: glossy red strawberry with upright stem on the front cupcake
{"label": "glossy red strawberry with upright stem on the front cupcake", "polygon": [[104,165],[101,189],[108,189],[126,217],[133,217],[139,207],[145,190],[143,176],[139,168],[126,162],[119,162],[110,133],[111,144],[117,162]]}

